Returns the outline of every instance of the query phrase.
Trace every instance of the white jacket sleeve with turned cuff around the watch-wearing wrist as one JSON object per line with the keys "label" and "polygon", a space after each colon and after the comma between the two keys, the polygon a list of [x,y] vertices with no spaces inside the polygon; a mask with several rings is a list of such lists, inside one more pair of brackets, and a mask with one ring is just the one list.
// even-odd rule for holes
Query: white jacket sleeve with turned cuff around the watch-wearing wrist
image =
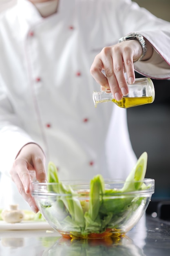
{"label": "white jacket sleeve with turned cuff around the watch-wearing wrist", "polygon": [[122,36],[139,32],[153,46],[164,64],[155,62],[155,58],[134,64],[137,72],[155,79],[170,78],[170,22],[157,18],[148,10],[139,7],[131,0],[122,0],[119,4]]}

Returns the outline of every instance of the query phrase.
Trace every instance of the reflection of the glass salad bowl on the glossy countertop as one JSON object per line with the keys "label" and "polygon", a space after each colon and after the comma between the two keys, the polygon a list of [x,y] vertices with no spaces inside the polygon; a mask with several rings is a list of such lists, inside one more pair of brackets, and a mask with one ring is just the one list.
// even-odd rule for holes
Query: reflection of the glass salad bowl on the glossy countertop
{"label": "reflection of the glass salad bowl on the glossy countertop", "polygon": [[103,239],[67,239],[61,237],[42,256],[144,256],[128,236]]}

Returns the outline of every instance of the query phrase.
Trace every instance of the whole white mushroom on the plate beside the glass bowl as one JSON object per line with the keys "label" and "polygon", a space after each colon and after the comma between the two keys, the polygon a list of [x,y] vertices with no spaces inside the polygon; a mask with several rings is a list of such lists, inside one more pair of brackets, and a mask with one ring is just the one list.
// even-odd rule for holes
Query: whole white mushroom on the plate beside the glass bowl
{"label": "whole white mushroom on the plate beside the glass bowl", "polygon": [[18,223],[24,218],[24,212],[18,209],[18,204],[10,204],[9,209],[4,209],[1,213],[2,220],[8,223]]}

